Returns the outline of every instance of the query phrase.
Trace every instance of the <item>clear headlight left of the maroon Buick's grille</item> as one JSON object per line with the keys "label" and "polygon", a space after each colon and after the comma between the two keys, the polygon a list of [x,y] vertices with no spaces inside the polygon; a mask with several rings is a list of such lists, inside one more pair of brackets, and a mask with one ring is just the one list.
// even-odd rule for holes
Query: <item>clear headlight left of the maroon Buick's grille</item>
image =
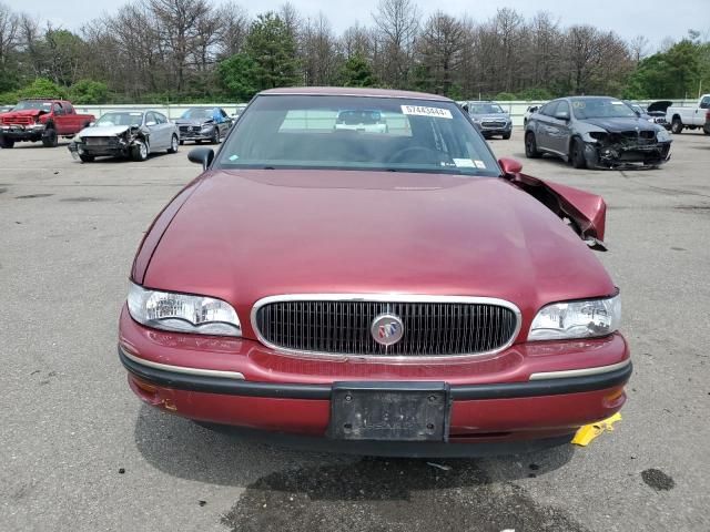
{"label": "clear headlight left of the maroon Buick's grille", "polygon": [[213,297],[150,290],[131,283],[129,313],[139,324],[156,329],[242,336],[234,308]]}

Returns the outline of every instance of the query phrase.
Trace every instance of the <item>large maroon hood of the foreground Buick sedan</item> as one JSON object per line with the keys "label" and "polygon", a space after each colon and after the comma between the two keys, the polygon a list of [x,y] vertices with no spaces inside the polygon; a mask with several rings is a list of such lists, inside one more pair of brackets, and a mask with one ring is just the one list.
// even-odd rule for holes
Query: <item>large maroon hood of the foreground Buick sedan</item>
{"label": "large maroon hood of the foreground Buick sedan", "polygon": [[615,291],[585,243],[501,178],[251,170],[209,172],[192,188],[143,284],[225,299],[243,326],[280,294],[497,297],[531,319],[547,303]]}

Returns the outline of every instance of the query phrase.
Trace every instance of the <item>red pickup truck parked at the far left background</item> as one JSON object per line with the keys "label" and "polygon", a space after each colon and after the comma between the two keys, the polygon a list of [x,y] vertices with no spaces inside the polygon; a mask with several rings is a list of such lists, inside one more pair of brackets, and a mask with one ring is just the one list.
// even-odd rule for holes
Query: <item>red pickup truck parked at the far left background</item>
{"label": "red pickup truck parked at the far left background", "polygon": [[95,119],[78,114],[70,102],[53,99],[22,100],[11,111],[0,113],[0,147],[16,142],[39,142],[54,147],[59,137],[72,137]]}

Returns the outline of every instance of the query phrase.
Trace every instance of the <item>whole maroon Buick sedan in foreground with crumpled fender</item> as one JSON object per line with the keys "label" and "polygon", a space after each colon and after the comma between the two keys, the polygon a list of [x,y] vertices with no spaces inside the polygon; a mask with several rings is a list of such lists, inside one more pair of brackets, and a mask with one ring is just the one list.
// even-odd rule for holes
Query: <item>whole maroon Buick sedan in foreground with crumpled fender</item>
{"label": "whole maroon Buick sedan in foreground with crumpled fender", "polygon": [[559,444],[623,405],[604,201],[496,161],[455,102],[265,91],[190,158],[204,172],[146,233],[120,318],[143,401],[408,456]]}

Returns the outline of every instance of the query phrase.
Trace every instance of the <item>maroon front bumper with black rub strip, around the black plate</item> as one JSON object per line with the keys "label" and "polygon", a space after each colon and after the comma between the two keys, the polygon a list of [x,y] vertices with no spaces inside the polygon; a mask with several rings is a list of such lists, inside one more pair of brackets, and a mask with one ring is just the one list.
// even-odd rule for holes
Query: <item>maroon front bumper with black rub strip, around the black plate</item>
{"label": "maroon front bumper with black rub strip, around the black plate", "polygon": [[[270,441],[307,437],[318,448],[406,456],[474,456],[569,441],[582,424],[626,401],[629,351],[618,335],[513,346],[485,359],[438,364],[302,359],[257,341],[145,328],[121,316],[119,356],[146,403],[205,423],[261,431]],[[448,443],[369,442],[327,437],[334,382],[447,382]],[[286,434],[286,436],[284,436]]]}

